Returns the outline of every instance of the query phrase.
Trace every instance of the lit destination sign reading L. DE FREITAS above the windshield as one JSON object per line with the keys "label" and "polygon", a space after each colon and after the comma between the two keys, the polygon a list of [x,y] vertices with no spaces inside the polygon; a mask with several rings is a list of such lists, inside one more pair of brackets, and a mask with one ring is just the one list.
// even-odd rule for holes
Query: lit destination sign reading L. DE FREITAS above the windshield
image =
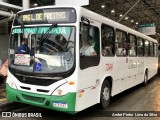
{"label": "lit destination sign reading L. DE FREITAS above the windshield", "polygon": [[38,9],[20,12],[13,25],[29,25],[43,23],[75,23],[76,12],[72,8]]}

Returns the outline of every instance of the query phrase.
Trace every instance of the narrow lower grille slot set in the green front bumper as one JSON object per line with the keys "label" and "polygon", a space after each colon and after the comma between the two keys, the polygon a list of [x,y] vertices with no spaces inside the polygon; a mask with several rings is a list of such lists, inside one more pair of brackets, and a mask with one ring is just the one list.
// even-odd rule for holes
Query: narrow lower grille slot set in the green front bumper
{"label": "narrow lower grille slot set in the green front bumper", "polygon": [[34,102],[39,102],[39,103],[43,103],[45,98],[41,98],[41,97],[33,97],[33,96],[28,96],[28,95],[24,95],[22,94],[22,97],[26,100],[29,101],[34,101]]}

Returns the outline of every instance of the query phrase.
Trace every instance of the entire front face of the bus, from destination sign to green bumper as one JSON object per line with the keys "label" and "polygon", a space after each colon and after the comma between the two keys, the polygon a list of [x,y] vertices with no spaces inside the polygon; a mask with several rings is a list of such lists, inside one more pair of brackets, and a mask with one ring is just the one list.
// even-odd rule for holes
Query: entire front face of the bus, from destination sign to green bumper
{"label": "entire front face of the bus, from destination sign to green bumper", "polygon": [[10,38],[9,100],[75,111],[75,25],[74,8],[17,13]]}

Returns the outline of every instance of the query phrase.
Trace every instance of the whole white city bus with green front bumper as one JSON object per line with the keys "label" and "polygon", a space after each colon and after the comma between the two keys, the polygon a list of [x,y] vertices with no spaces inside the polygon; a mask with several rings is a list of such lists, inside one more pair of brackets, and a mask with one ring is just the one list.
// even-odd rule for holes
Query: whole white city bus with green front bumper
{"label": "whole white city bus with green front bumper", "polygon": [[10,35],[7,98],[73,114],[95,104],[106,109],[111,97],[157,73],[157,46],[83,7],[20,11]]}

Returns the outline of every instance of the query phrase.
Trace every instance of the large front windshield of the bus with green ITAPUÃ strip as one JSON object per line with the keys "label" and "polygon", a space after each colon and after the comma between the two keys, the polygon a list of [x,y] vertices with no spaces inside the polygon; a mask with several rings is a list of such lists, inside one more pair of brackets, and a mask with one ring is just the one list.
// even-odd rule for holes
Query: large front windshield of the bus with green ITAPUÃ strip
{"label": "large front windshield of the bus with green ITAPU\u00c3 strip", "polygon": [[74,43],[75,27],[13,28],[10,69],[41,75],[67,72],[74,65]]}

